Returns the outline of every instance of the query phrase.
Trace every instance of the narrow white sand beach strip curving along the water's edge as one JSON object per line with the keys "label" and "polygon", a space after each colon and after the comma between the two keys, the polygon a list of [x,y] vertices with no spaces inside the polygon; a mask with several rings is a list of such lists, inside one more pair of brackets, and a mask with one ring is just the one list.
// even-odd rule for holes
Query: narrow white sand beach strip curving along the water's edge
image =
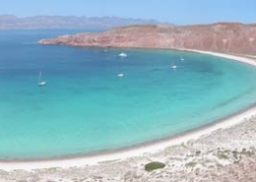
{"label": "narrow white sand beach strip curving along the water's edge", "polygon": [[[218,57],[224,57],[231,60],[236,60],[245,64],[252,65],[256,67],[256,62],[249,58],[243,58],[238,56],[227,55],[223,53],[215,53],[208,51],[200,51],[193,49],[178,49],[182,51],[191,51],[202,54],[209,54]],[[145,153],[155,153],[164,151],[166,148],[179,145],[190,140],[197,140],[202,136],[211,135],[211,133],[220,130],[229,128],[233,125],[237,125],[244,121],[244,119],[250,118],[252,115],[256,114],[256,106],[251,107],[250,109],[238,113],[236,115],[230,116],[224,120],[217,121],[213,124],[200,127],[198,129],[192,130],[191,132],[186,132],[180,134],[177,137],[172,137],[170,139],[162,140],[160,142],[149,143],[146,145],[138,146],[131,149],[125,149],[117,152],[102,153],[96,155],[87,155],[81,157],[72,157],[72,158],[63,158],[63,159],[52,159],[52,160],[33,160],[33,161],[0,161],[0,169],[3,170],[14,170],[14,169],[38,169],[38,168],[49,168],[49,167],[80,167],[88,164],[97,164],[98,162],[108,161],[108,160],[117,160],[117,159],[126,159],[129,157],[135,157],[138,155],[143,155]]]}

